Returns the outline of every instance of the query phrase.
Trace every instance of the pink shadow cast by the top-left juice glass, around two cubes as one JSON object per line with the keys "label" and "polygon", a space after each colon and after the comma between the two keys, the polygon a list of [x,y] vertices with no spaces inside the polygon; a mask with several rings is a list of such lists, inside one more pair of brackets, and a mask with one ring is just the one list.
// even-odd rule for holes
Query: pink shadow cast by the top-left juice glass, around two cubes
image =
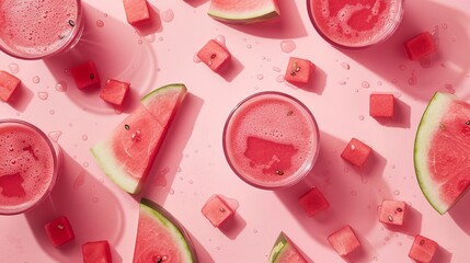
{"label": "pink shadow cast by the top-left juice glass, around two cubes", "polygon": [[44,62],[70,101],[96,114],[113,114],[116,108],[100,99],[100,89],[78,90],[68,71],[73,66],[93,60],[100,72],[101,87],[107,79],[130,83],[125,107],[118,111],[131,112],[139,105],[139,99],[154,89],[157,57],[149,46],[154,39],[142,38],[129,24],[111,15],[104,16],[102,11],[90,4],[83,3],[83,9],[85,25],[81,39],[68,53]]}

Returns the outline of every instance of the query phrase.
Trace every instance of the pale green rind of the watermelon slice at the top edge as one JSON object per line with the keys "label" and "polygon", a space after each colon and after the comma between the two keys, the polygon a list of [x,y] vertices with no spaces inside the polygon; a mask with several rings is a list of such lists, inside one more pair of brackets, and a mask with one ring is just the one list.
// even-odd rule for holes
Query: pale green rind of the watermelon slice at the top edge
{"label": "pale green rind of the watermelon slice at the top edge", "polygon": [[223,10],[217,10],[214,7],[209,7],[207,14],[218,21],[233,24],[252,24],[263,22],[280,15],[278,4],[267,5],[257,10],[245,11],[241,13],[230,13]]}

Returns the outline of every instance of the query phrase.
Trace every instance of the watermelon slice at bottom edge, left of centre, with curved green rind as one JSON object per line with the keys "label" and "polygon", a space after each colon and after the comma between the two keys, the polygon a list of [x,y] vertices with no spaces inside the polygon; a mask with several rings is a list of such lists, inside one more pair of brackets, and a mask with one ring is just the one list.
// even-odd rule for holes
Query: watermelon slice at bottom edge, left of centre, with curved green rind
{"label": "watermelon slice at bottom edge, left of centre, with curved green rind", "polygon": [[197,262],[190,236],[163,207],[141,199],[134,263]]}

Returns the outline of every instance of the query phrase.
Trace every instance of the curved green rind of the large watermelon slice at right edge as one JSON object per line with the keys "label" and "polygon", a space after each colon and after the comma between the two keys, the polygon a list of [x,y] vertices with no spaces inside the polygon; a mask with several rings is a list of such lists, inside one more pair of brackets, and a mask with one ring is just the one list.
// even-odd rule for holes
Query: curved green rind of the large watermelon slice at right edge
{"label": "curved green rind of the large watermelon slice at right edge", "polygon": [[431,148],[433,135],[439,129],[440,119],[455,100],[456,98],[451,94],[436,92],[423,113],[414,139],[414,170],[417,182],[428,203],[440,215],[445,214],[450,206],[442,201],[440,191],[431,180],[427,152]]}

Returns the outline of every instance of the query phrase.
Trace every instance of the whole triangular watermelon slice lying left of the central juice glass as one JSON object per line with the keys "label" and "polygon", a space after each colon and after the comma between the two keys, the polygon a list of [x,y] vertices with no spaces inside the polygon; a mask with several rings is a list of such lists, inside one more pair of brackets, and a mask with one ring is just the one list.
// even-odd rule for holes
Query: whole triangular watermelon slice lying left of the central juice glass
{"label": "whole triangular watermelon slice lying left of the central juice glass", "polygon": [[108,138],[92,147],[100,168],[124,191],[141,191],[186,92],[184,84],[169,84],[150,92]]}

